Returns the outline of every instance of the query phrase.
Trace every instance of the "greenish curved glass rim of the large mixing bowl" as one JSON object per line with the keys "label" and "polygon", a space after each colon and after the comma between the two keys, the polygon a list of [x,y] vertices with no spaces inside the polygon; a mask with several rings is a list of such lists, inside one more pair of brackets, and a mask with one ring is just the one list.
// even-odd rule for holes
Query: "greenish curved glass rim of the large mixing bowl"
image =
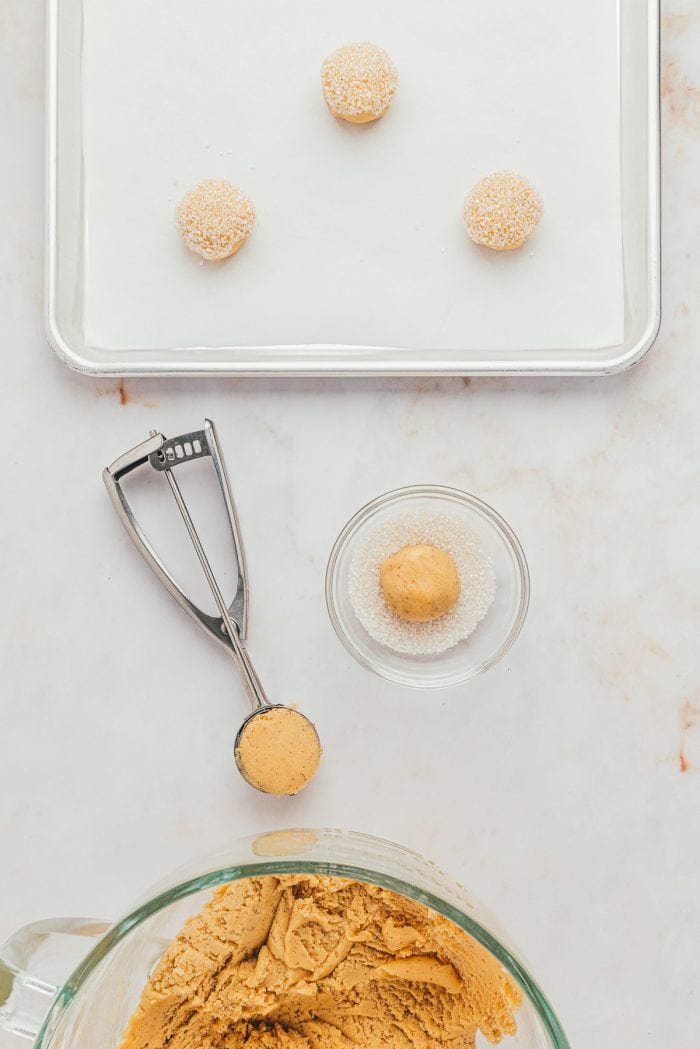
{"label": "greenish curved glass rim of the large mixing bowl", "polygon": [[[374,841],[382,845],[398,848],[402,853],[411,852],[404,845],[375,835],[352,832],[352,836],[356,839],[364,838],[368,842]],[[241,841],[239,840],[237,844],[240,843]],[[422,859],[419,854],[413,853],[413,855]],[[171,887],[156,893],[147,902],[115,922],[98,941],[97,945],[83,959],[58,991],[37,1035],[34,1049],[48,1049],[52,1035],[78,992],[109,951],[121,943],[133,928],[143,924],[148,918],[157,914],[166,906],[187,899],[188,896],[193,896],[195,893],[214,890],[219,885],[239,881],[243,878],[275,874],[316,874],[348,878],[372,885],[379,885],[382,889],[388,889],[410,900],[424,904],[431,911],[436,911],[481,943],[483,947],[501,962],[506,971],[524,991],[528,1001],[531,1002],[543,1024],[545,1033],[550,1039],[551,1049],[571,1049],[571,1044],[564,1032],[553,1007],[527,967],[493,933],[487,929],[475,918],[468,915],[465,911],[455,907],[442,897],[437,896],[434,893],[413,885],[411,882],[404,881],[402,878],[386,874],[383,871],[375,871],[370,866],[359,866],[354,863],[337,863],[327,859],[304,860],[298,857],[293,859],[266,858],[260,862],[253,861],[233,864],[231,866],[217,866],[205,874],[185,878],[182,881],[177,881]]]}

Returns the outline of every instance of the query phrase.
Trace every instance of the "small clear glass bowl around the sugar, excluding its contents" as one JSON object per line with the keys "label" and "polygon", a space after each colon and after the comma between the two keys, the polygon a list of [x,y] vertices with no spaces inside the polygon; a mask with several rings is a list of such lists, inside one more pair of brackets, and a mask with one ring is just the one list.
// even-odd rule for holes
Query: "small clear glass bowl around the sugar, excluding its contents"
{"label": "small clear glass bowl around the sugar, excluding its contents", "polygon": [[[468,638],[438,656],[397,652],[375,641],[349,600],[349,570],[358,548],[372,529],[391,517],[400,518],[406,510],[442,511],[459,517],[495,569],[495,599],[486,618]],[[367,670],[412,688],[446,688],[484,673],[510,649],[527,615],[530,576],[515,534],[494,510],[455,488],[417,485],[379,496],[347,522],[331,552],[325,600],[336,634]]]}

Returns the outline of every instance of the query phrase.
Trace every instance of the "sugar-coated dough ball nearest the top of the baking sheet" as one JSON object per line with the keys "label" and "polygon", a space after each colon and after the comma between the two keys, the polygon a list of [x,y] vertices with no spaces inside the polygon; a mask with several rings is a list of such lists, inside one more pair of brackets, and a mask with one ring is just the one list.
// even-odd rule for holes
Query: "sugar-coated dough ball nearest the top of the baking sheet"
{"label": "sugar-coated dough ball nearest the top of the baking sheet", "polygon": [[347,44],[323,63],[323,95],[334,116],[351,124],[378,121],[394,102],[399,77],[391,59],[374,44]]}

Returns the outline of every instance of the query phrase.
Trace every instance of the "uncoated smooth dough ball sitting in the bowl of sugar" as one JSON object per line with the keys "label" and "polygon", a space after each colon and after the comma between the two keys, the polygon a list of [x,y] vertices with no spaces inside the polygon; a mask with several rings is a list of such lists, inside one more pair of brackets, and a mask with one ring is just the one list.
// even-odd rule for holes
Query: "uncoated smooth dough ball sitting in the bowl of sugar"
{"label": "uncoated smooth dough ball sitting in the bowl of sugar", "polygon": [[454,561],[437,547],[404,547],[381,564],[389,608],[410,623],[441,619],[457,604],[462,586]]}

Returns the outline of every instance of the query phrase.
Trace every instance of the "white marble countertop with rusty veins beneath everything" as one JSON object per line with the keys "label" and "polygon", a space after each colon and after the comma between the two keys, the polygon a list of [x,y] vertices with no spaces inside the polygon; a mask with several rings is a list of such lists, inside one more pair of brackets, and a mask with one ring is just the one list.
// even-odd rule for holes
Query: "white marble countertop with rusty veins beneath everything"
{"label": "white marble countertop with rusty veins beneath everything", "polygon": [[[634,370],[125,385],[70,373],[44,339],[42,6],[0,0],[0,939],[50,915],[115,916],[228,838],[352,827],[484,898],[574,1046],[695,1049],[700,3],[665,5],[665,316]],[[251,650],[324,743],[292,800],[235,774],[229,661],[149,575],[100,479],[150,427],[205,414],[242,516]],[[533,580],[507,661],[437,694],[362,670],[322,600],[347,517],[424,480],[492,502]]]}

